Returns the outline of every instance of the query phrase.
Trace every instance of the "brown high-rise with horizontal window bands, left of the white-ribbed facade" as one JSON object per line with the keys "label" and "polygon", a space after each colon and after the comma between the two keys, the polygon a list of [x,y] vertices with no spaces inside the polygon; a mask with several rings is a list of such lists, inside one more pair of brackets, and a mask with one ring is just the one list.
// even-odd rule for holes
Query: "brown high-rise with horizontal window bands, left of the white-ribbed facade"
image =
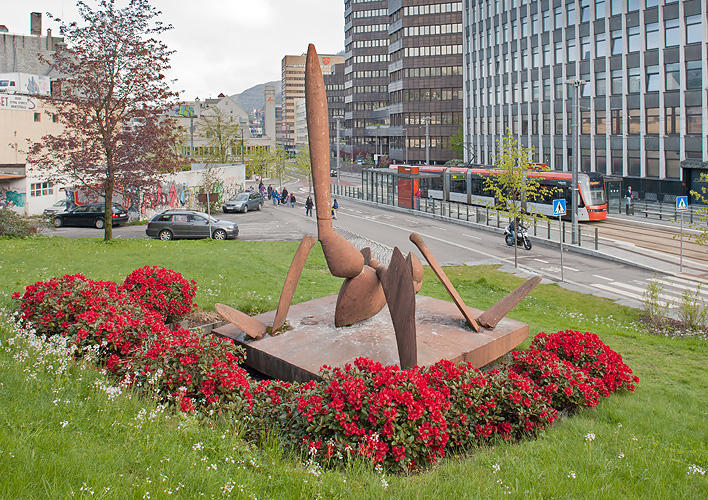
{"label": "brown high-rise with horizontal window bands, left of the white-ribbed facade", "polygon": [[345,2],[347,152],[453,158],[462,126],[462,2]]}

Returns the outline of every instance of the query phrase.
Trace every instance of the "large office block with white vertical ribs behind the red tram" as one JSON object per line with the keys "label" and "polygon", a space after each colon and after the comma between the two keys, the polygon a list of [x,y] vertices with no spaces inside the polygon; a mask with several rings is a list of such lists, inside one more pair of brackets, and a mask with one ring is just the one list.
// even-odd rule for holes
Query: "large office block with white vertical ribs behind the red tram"
{"label": "large office block with white vertical ribs behind the red tram", "polygon": [[466,159],[493,162],[509,129],[569,170],[569,82],[584,81],[581,170],[651,197],[685,192],[681,161],[708,160],[707,0],[464,3]]}

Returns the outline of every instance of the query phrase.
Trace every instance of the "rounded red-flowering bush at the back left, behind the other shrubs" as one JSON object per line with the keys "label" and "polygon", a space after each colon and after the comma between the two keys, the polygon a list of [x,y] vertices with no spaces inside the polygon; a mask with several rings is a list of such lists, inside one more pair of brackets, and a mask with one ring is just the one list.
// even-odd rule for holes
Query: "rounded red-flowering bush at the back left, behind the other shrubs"
{"label": "rounded red-flowering bush at the back left, behind the other shrubs", "polygon": [[160,313],[168,323],[181,320],[197,307],[197,284],[171,269],[141,267],[125,278],[122,288],[146,308]]}

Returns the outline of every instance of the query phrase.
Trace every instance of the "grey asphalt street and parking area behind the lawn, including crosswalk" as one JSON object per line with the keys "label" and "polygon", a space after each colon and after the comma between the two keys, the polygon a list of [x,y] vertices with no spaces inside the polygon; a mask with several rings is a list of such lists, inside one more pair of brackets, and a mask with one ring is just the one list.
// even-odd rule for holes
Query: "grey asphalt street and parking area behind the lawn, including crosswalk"
{"label": "grey asphalt street and parking area behind the lawn, including crosswalk", "polygon": [[[295,189],[298,200],[304,201],[307,189]],[[409,240],[410,234],[417,232],[443,265],[495,264],[516,272],[514,249],[505,244],[500,234],[442,220],[392,212],[341,198],[339,202],[340,210],[337,220],[334,221],[335,228],[358,248],[372,247],[381,262],[388,261],[394,246],[398,246],[404,254],[413,251],[422,259],[417,248]],[[300,240],[306,234],[317,234],[314,217],[306,217],[301,203],[290,208],[276,207],[266,201],[261,211],[220,214],[217,217],[238,224],[239,240]],[[100,238],[103,232],[93,228],[59,228],[50,230],[49,234],[70,238]],[[145,226],[114,228],[114,237],[146,238]],[[224,244],[234,242],[227,241]],[[518,265],[522,273],[537,273],[548,280],[560,281],[560,255],[557,248],[544,245],[534,245],[530,251],[520,248]],[[618,299],[633,307],[642,304],[643,293],[651,280],[662,282],[665,288],[664,298],[674,302],[678,302],[684,290],[695,290],[697,284],[681,277],[571,252],[564,254],[564,278],[562,286]],[[708,300],[708,294],[703,293],[704,298]]]}

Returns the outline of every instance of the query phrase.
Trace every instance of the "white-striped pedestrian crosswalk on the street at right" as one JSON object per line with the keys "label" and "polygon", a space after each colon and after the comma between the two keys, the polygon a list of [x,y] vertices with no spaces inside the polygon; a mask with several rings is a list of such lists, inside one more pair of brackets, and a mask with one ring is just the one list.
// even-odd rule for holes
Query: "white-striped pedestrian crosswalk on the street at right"
{"label": "white-striped pedestrian crosswalk on the street at right", "polygon": [[681,304],[685,293],[690,294],[694,301],[698,300],[708,304],[708,286],[705,283],[677,276],[654,277],[631,282],[605,281],[603,283],[591,283],[590,286],[611,295],[643,303],[647,288],[652,282],[658,285],[659,300],[669,308],[677,308]]}

